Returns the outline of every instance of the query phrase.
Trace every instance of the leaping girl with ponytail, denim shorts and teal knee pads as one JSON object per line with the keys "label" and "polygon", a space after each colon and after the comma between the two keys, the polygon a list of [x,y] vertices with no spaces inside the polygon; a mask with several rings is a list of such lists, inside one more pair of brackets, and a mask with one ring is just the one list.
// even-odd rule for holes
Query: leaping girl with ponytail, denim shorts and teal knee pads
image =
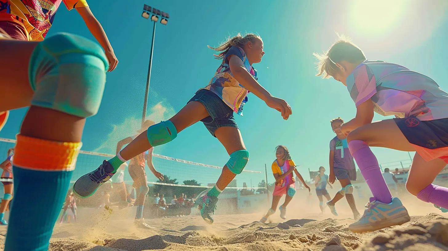
{"label": "leaping girl with ponytail, denim shorts and teal knee pads", "polygon": [[95,193],[125,161],[147,151],[151,147],[172,141],[185,128],[202,121],[211,135],[223,144],[230,159],[224,165],[216,185],[202,195],[199,201],[202,218],[213,223],[218,195],[233,178],[242,172],[249,161],[249,151],[243,143],[233,113],[242,115],[247,94],[254,93],[267,106],[278,110],[286,120],[292,111],[286,101],[272,96],[258,82],[252,66],[261,62],[264,55],[263,40],[255,34],[237,35],[213,48],[222,60],[210,83],[201,88],[174,117],[151,125],[142,134],[110,160],[104,160],[98,169],[80,177],[74,184],[75,194],[86,198]]}

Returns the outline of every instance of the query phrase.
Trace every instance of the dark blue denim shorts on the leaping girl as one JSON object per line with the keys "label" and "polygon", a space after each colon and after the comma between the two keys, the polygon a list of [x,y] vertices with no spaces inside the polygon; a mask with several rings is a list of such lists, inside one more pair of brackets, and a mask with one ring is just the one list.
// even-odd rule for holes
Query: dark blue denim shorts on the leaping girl
{"label": "dark blue denim shorts on the leaping girl", "polygon": [[224,126],[238,128],[233,117],[232,108],[228,107],[221,98],[209,90],[199,90],[188,102],[199,101],[206,108],[210,116],[201,120],[211,135],[215,136],[216,129]]}

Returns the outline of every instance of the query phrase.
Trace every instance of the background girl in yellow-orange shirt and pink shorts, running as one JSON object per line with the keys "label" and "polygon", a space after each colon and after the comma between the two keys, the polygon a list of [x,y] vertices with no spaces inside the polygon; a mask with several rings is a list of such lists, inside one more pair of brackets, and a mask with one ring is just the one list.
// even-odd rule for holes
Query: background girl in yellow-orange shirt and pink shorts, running
{"label": "background girl in yellow-orange shirt and pink shorts, running", "polygon": [[286,219],[286,206],[288,206],[289,202],[293,199],[294,194],[296,193],[296,186],[293,172],[296,173],[296,176],[303,183],[303,185],[308,188],[308,191],[311,191],[310,187],[306,185],[303,180],[302,175],[297,172],[296,164],[291,159],[289,155],[289,150],[285,146],[277,146],[276,147],[276,160],[272,163],[272,174],[276,179],[276,185],[274,188],[274,192],[272,193],[272,206],[267,211],[267,214],[261,218],[261,222],[265,223],[269,216],[276,212],[276,208],[280,202],[280,199],[283,195],[286,195],[284,199],[284,203],[280,206],[280,217],[282,219]]}

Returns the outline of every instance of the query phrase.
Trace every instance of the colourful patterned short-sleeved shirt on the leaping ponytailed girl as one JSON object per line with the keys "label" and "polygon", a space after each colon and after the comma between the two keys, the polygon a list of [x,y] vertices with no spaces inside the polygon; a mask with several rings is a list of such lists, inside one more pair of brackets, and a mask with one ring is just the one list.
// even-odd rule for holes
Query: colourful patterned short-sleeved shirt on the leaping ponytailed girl
{"label": "colourful patterned short-sleeved shirt on the leaping ponytailed girl", "polygon": [[257,79],[257,71],[249,64],[246,53],[242,48],[232,46],[226,55],[220,67],[216,70],[208,85],[201,89],[210,90],[218,95],[225,104],[233,109],[233,112],[243,116],[243,106],[247,102],[247,91],[235,78],[230,71],[228,65],[228,57],[231,55],[238,56],[243,61],[244,67],[255,79]]}

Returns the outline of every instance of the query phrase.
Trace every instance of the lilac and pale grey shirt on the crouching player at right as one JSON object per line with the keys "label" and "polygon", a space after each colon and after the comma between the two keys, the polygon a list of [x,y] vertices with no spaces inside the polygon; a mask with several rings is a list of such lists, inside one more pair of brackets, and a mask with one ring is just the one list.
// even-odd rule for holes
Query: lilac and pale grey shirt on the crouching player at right
{"label": "lilac and pale grey shirt on the crouching player at right", "polygon": [[448,117],[448,93],[431,78],[404,66],[364,61],[347,78],[355,105],[371,99],[383,116],[418,117],[422,121]]}

